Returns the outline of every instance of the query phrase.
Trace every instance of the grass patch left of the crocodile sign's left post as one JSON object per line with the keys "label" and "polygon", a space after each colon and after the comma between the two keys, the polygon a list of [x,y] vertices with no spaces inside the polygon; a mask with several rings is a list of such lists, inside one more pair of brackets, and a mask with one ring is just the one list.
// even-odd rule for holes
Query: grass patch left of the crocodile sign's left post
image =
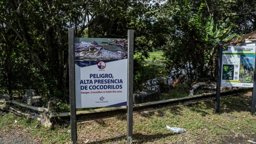
{"label": "grass patch left of the crocodile sign's left post", "polygon": [[35,128],[37,123],[36,119],[17,117],[13,113],[3,114],[0,111],[0,131],[8,135],[19,133],[31,137],[37,143],[64,143],[71,139],[71,134],[68,133],[70,125],[57,125],[54,129],[47,130],[41,125]]}

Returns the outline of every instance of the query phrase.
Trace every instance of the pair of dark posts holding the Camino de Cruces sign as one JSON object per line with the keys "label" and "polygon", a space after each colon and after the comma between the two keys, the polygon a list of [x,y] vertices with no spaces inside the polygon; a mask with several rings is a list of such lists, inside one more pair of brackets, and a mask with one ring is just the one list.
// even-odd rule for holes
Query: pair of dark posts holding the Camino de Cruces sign
{"label": "pair of dark posts holding the Camino de Cruces sign", "polygon": [[[215,112],[220,112],[220,97],[221,97],[221,79],[222,79],[222,43],[218,43],[218,75],[217,75],[217,88],[216,88],[216,99],[215,99]],[[254,60],[254,68],[256,68],[256,58]],[[256,110],[256,71],[254,70],[253,76],[253,89],[252,89],[252,106],[251,114],[255,114]]]}

